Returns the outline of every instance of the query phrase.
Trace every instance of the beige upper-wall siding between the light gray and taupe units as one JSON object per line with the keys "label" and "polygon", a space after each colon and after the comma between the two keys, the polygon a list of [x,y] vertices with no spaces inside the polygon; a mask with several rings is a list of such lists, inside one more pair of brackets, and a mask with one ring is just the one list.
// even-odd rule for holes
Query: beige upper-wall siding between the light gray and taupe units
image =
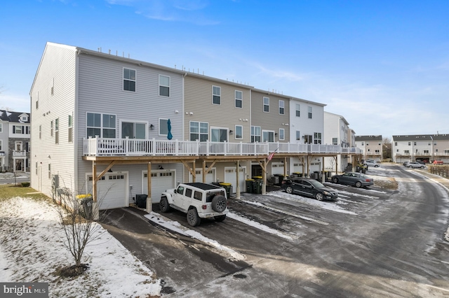
{"label": "beige upper-wall siding between the light gray and taupe units", "polygon": [[[212,87],[221,88],[221,104],[212,103]],[[243,93],[243,107],[235,107],[235,91]],[[235,130],[235,125],[243,127],[243,139],[229,135],[229,142],[249,143],[250,138],[250,90],[244,85],[233,85],[207,77],[185,77],[185,139],[189,140],[190,121],[208,122],[210,127]],[[190,112],[193,115],[190,115]],[[248,121],[243,121],[248,119]]]}

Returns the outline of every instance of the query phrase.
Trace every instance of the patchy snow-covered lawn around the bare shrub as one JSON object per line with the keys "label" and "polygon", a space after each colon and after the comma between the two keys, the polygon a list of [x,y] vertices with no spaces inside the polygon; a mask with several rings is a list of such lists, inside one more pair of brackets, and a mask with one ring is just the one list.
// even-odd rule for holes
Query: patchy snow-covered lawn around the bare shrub
{"label": "patchy snow-covered lawn around the bare shrub", "polygon": [[[94,225],[98,225],[94,223]],[[148,297],[160,281],[101,226],[84,250],[89,269],[77,278],[55,270],[74,264],[55,208],[15,197],[0,202],[0,281],[49,283],[50,297]]]}

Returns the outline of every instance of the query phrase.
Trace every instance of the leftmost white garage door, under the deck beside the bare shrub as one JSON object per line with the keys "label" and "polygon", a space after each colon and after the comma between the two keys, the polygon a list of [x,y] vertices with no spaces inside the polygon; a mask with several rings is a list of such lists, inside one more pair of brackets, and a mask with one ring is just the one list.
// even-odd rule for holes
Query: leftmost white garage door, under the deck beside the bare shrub
{"label": "leftmost white garage door, under the deck beside the bare shrub", "polygon": [[[88,176],[89,192],[92,193],[92,176]],[[127,173],[107,173],[97,183],[100,210],[128,207]]]}

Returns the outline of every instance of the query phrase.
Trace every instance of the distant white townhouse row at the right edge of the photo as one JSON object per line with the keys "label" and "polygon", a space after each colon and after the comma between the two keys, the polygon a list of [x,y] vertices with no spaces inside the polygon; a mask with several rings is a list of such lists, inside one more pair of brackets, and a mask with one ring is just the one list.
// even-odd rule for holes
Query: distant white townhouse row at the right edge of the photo
{"label": "distant white townhouse row at the right edge of the photo", "polygon": [[449,134],[393,136],[391,155],[394,162],[432,162],[441,159],[449,163]]}

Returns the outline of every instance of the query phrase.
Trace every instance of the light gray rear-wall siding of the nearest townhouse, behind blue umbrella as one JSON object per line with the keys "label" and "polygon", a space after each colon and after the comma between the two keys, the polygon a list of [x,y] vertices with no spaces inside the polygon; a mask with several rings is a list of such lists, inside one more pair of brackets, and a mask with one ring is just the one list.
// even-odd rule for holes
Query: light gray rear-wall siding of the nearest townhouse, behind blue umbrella
{"label": "light gray rear-wall siding of the nearest townhouse, behind blue umbrella", "polygon": [[[145,122],[147,127],[154,125],[154,130],[148,129],[148,139],[163,139],[159,136],[159,118],[170,119],[173,139],[183,139],[183,108],[182,108],[182,75],[170,73],[135,63],[126,63],[114,59],[80,55],[79,57],[79,97],[78,97],[78,155],[79,178],[84,179],[86,172],[92,171],[92,163],[81,159],[82,140],[86,137],[86,113],[106,113],[116,115],[116,137],[121,138],[121,121]],[[136,92],[123,91],[123,68],[135,69]],[[170,77],[170,97],[159,96],[159,75]],[[175,113],[177,111],[178,113]],[[98,168],[102,171],[103,168]],[[140,181],[140,166],[114,166],[114,171],[129,169],[130,185],[138,186],[134,181],[138,170]],[[182,171],[177,172],[180,176]],[[178,177],[177,177],[178,178]],[[182,177],[181,177],[182,178]]]}

